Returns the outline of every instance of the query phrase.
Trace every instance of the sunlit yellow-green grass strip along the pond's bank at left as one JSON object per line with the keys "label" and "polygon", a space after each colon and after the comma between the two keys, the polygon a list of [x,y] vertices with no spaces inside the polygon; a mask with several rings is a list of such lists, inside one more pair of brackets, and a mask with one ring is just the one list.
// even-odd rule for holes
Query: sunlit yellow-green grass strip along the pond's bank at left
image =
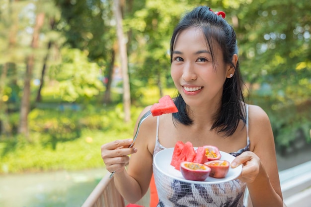
{"label": "sunlit yellow-green grass strip along the pond's bank at left", "polygon": [[42,145],[40,135],[34,135],[35,142],[19,144],[13,151],[1,156],[1,173],[37,172],[49,170],[79,170],[103,167],[100,146],[115,139],[130,137],[130,130],[124,132],[85,129],[81,136],[69,142],[59,142],[56,149]]}

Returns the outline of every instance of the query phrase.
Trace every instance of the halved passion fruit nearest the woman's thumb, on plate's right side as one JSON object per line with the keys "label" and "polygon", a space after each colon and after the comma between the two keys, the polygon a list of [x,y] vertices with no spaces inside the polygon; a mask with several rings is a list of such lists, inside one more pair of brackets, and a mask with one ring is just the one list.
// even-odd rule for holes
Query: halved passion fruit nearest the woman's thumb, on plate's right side
{"label": "halved passion fruit nearest the woman's thumb, on plate's right side", "polygon": [[204,163],[211,168],[210,175],[214,178],[224,178],[229,172],[230,162],[227,160],[212,160]]}

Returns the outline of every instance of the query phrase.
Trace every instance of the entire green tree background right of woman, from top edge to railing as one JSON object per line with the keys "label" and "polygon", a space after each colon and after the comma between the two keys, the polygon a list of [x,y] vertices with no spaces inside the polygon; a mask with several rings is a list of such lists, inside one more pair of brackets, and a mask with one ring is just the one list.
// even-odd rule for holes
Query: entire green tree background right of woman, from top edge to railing
{"label": "entire green tree background right of woman, from top edge to railing", "polygon": [[228,2],[224,7],[237,32],[250,101],[268,112],[277,147],[287,148],[301,136],[310,142],[310,1]]}

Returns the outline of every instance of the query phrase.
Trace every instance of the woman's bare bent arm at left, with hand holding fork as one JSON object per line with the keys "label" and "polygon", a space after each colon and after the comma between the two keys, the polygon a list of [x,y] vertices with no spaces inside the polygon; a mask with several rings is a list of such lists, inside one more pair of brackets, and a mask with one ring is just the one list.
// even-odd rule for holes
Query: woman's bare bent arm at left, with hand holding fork
{"label": "woman's bare bent arm at left, with hand holding fork", "polygon": [[[138,120],[148,109],[149,108],[144,109]],[[109,171],[116,170],[114,181],[117,190],[122,197],[130,203],[136,203],[139,201],[146,194],[149,187],[152,176],[153,158],[149,146],[152,144],[150,142],[155,142],[156,140],[156,137],[152,139],[152,132],[156,128],[156,122],[154,119],[154,117],[150,116],[142,123],[135,145],[132,149],[123,147],[119,149],[116,144],[111,147],[111,143],[103,145],[101,149],[102,157],[106,163],[107,169]],[[135,128],[137,128],[137,123]],[[115,142],[122,143],[124,141]],[[123,160],[126,160],[126,157],[130,154],[132,155],[130,156],[130,159],[127,160],[129,165],[128,170],[126,170],[124,168],[125,164],[123,164],[125,161]]]}

